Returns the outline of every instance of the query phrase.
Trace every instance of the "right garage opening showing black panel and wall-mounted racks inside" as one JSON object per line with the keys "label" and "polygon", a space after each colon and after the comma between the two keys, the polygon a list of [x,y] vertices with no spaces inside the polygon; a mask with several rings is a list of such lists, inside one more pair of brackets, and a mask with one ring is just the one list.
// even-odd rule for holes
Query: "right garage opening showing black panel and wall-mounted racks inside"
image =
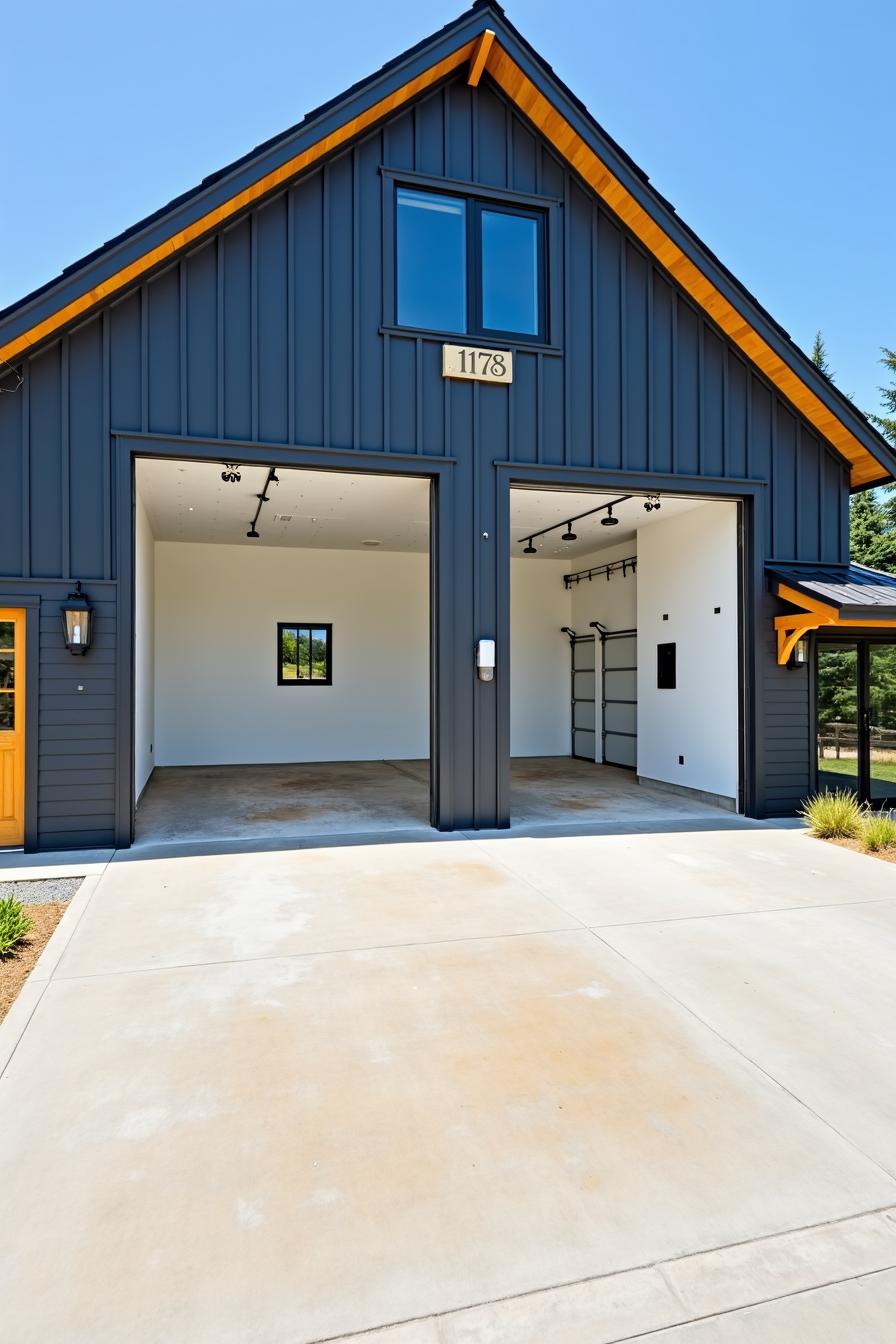
{"label": "right garage opening showing black panel and wall-mounted racks inside", "polygon": [[740,809],[737,505],[510,491],[510,812]]}

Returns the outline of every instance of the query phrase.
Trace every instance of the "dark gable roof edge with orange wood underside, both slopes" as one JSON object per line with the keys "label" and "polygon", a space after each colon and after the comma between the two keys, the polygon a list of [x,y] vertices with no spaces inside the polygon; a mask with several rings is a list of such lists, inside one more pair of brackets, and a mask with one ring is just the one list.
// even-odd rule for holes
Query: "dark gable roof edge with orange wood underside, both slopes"
{"label": "dark gable roof edge with orange wood underside, both slopes", "polygon": [[896,476],[896,456],[787,332],[678,218],[494,0],[465,15],[257,146],[193,191],[0,312],[0,363],[55,339],[451,74],[488,73],[690,298],[850,465],[853,488]]}

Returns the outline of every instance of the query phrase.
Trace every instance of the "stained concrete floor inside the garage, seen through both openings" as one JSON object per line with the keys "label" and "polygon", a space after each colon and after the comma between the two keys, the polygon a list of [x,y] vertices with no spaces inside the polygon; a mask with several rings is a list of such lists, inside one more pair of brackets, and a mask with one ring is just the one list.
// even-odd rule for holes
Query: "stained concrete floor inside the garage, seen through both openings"
{"label": "stained concrete floor inside the garage, seen through both openings", "polygon": [[[568,757],[510,763],[514,827],[723,817],[630,770]],[[137,845],[430,829],[429,761],[159,767],[137,809]]]}

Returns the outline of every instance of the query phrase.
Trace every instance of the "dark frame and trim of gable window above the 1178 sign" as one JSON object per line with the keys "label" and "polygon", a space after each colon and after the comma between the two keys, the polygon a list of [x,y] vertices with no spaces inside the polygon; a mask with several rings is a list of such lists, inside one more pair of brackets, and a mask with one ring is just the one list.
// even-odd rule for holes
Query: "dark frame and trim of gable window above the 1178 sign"
{"label": "dark frame and trim of gable window above the 1178 sign", "polygon": [[[383,177],[383,331],[408,335],[430,335],[441,340],[458,343],[481,341],[486,345],[510,343],[536,349],[556,349],[555,333],[559,331],[559,245],[562,202],[552,196],[536,196],[525,192],[506,191],[500,187],[482,187],[478,183],[459,181],[451,177],[430,177],[423,173],[399,172],[380,168]],[[443,196],[462,198],[466,204],[466,331],[441,331],[410,327],[398,320],[398,191],[433,192]],[[482,211],[506,212],[535,219],[537,226],[539,265],[539,331],[513,332],[485,328],[481,323],[482,310],[482,258],[481,227]]]}

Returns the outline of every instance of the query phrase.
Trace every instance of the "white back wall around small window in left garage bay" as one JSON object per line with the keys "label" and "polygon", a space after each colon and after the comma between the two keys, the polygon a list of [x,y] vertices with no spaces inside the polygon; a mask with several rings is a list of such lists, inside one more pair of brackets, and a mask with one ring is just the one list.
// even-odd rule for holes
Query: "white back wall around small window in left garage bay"
{"label": "white back wall around small window in left garage bay", "polygon": [[[156,762],[429,755],[422,555],[156,543]],[[332,685],[277,684],[277,622],[332,624]]]}

